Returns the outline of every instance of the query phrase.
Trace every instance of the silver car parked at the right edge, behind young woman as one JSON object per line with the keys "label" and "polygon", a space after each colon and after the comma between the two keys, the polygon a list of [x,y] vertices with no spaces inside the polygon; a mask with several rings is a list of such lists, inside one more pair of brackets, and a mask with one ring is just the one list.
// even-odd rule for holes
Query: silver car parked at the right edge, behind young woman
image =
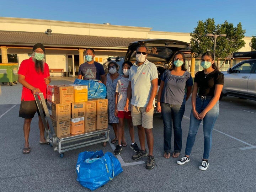
{"label": "silver car parked at the right edge, behind young woman", "polygon": [[[251,54],[250,54],[251,53]],[[256,52],[238,52],[233,57],[255,58]],[[222,96],[235,96],[244,99],[256,100],[256,58],[244,60],[224,74]]]}

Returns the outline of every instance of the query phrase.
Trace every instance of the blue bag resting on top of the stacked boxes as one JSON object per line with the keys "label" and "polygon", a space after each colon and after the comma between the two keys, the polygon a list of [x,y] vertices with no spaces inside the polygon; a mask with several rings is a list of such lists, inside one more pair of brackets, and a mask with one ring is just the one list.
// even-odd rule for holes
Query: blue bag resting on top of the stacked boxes
{"label": "blue bag resting on top of the stacked boxes", "polygon": [[73,84],[87,85],[87,87],[88,87],[88,99],[106,98],[106,96],[107,96],[106,85],[104,85],[103,83],[98,82],[98,80],[75,79]]}

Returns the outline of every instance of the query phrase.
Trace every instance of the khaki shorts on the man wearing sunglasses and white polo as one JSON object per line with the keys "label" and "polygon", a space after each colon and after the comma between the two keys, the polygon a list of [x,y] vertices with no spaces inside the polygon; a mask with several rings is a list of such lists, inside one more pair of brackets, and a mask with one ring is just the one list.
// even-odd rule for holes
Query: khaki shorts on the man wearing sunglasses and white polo
{"label": "khaki shorts on the man wearing sunglasses and white polo", "polygon": [[153,128],[154,106],[152,106],[152,109],[149,112],[146,112],[146,107],[132,105],[131,114],[134,126],[142,125],[142,127],[146,129]]}

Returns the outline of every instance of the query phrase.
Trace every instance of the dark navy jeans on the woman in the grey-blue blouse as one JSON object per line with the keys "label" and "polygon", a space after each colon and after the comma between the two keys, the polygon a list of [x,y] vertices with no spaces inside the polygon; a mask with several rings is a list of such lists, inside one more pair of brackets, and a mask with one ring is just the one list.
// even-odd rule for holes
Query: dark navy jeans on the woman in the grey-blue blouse
{"label": "dark navy jeans on the woman in the grey-blue blouse", "polygon": [[164,122],[164,150],[171,150],[172,124],[174,128],[174,151],[180,152],[182,147],[181,120],[185,112],[185,104],[170,105],[161,103],[162,119]]}

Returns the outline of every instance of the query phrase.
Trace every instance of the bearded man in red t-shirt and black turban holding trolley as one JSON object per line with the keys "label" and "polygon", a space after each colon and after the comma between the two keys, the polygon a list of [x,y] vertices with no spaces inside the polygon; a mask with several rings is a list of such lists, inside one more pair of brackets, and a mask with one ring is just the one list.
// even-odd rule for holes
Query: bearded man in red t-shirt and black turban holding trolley
{"label": "bearded man in red t-shirt and black turban holding trolley", "polygon": [[19,112],[19,117],[24,118],[23,131],[25,145],[22,153],[28,154],[31,151],[28,143],[30,124],[36,112],[38,113],[38,126],[40,130],[39,144],[49,144],[44,138],[44,125],[33,96],[37,92],[42,92],[44,98],[46,98],[47,85],[51,82],[49,66],[45,63],[45,49],[43,44],[35,44],[31,58],[21,62],[18,70],[18,82],[23,85]]}

